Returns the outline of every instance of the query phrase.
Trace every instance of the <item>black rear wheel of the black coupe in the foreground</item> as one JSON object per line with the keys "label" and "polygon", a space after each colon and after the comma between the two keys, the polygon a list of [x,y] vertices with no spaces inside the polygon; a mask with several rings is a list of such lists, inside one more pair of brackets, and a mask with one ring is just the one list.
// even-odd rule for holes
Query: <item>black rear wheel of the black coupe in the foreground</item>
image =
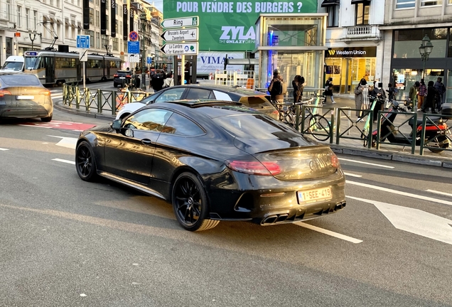
{"label": "black rear wheel of the black coupe in the foreground", "polygon": [[193,173],[181,173],[173,185],[171,195],[178,222],[190,231],[209,230],[219,220],[207,220],[208,200],[201,181]]}

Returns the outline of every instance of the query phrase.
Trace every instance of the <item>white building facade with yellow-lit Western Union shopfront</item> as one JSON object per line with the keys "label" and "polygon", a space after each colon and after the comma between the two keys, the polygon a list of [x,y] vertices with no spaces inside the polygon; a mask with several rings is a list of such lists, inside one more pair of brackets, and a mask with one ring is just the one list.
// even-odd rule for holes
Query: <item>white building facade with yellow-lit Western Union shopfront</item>
{"label": "white building facade with yellow-lit Western Union shopfront", "polygon": [[335,91],[353,93],[361,78],[382,81],[384,0],[323,0],[318,6],[328,13],[325,78],[333,78]]}

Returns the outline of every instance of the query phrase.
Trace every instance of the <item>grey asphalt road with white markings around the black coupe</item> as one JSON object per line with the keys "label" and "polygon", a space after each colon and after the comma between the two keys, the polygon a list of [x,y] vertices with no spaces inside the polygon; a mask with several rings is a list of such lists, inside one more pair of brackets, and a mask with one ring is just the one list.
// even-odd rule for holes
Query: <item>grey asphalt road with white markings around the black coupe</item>
{"label": "grey asphalt road with white markings around the black coupe", "polygon": [[105,122],[0,124],[0,306],[452,306],[450,171],[340,156],[344,210],[192,233],[78,178],[75,130]]}

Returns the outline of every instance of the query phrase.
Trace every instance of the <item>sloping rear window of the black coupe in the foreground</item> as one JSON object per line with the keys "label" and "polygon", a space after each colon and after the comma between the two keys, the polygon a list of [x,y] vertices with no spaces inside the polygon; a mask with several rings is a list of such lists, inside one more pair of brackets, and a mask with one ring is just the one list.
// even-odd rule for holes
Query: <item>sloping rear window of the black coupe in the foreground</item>
{"label": "sloping rear window of the black coupe in the foreground", "polygon": [[215,117],[222,129],[240,139],[291,139],[301,135],[290,126],[260,114]]}

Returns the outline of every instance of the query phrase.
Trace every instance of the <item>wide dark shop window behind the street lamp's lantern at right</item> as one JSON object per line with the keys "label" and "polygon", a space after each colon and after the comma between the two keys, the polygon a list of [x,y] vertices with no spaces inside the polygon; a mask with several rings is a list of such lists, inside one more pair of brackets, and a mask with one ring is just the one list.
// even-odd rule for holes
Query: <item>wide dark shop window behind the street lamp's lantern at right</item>
{"label": "wide dark shop window behind the street lamp's lantern at right", "polygon": [[419,46],[428,35],[434,48],[430,58],[444,58],[446,55],[447,28],[406,29],[394,31],[394,58],[421,58]]}

